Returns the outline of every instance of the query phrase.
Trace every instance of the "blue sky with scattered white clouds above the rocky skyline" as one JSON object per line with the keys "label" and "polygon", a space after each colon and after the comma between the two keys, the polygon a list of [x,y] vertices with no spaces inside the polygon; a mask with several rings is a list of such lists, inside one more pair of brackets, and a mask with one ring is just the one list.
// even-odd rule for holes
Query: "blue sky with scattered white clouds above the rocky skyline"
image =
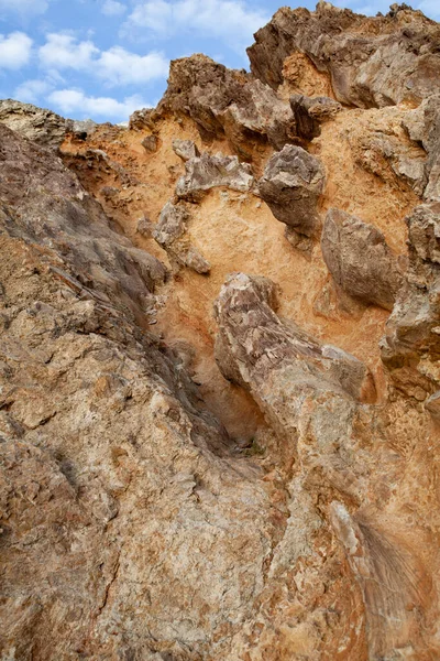
{"label": "blue sky with scattered white clouds above the rocky skyline", "polygon": [[[386,13],[383,0],[334,0]],[[292,7],[314,9],[305,0]],[[154,106],[169,61],[206,53],[248,67],[253,33],[283,6],[274,0],[0,0],[0,97],[74,119],[124,121]],[[416,0],[440,19],[440,0]]]}

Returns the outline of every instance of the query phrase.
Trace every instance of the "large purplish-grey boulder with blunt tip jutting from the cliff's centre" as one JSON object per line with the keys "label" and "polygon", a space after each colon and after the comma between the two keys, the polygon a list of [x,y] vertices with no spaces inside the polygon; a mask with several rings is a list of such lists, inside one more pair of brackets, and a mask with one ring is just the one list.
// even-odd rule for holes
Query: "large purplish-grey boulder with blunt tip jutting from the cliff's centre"
{"label": "large purplish-grey boulder with blunt tip jutting from the cliff's centre", "polygon": [[250,390],[267,412],[277,397],[295,408],[294,398],[308,389],[371,397],[366,367],[279,319],[275,301],[275,285],[265,278],[235,273],[228,279],[215,304],[216,356],[223,375]]}

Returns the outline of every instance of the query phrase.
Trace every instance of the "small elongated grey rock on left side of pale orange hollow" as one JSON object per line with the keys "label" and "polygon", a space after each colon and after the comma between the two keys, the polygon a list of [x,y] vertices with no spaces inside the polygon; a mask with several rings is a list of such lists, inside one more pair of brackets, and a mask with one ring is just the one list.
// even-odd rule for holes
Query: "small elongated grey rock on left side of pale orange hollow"
{"label": "small elongated grey rock on left side of pale orange hollow", "polygon": [[189,213],[180,203],[167,202],[162,209],[153,237],[169,254],[173,261],[193,269],[197,273],[209,273],[210,264],[195,248],[187,234]]}

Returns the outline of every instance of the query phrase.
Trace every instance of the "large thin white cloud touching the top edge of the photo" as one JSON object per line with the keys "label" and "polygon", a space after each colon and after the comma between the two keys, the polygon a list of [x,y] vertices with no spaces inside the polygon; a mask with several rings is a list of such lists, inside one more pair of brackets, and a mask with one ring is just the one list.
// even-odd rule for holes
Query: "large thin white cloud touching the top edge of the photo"
{"label": "large thin white cloud touching the top edge of the photo", "polygon": [[268,13],[251,9],[242,0],[150,0],[138,2],[123,25],[123,33],[128,36],[133,29],[141,29],[169,37],[183,31],[196,32],[227,39],[240,50],[251,44],[253,33],[270,19]]}

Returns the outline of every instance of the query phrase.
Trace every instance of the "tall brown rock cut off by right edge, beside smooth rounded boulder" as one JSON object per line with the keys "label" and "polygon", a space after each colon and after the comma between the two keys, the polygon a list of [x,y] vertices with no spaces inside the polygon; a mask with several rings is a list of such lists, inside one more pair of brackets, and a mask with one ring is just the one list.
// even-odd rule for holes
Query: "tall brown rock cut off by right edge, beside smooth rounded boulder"
{"label": "tall brown rock cut off by right edge, beside smooth rounded boulder", "polygon": [[440,386],[440,204],[406,218],[409,270],[382,340],[382,359],[396,386],[420,401]]}

